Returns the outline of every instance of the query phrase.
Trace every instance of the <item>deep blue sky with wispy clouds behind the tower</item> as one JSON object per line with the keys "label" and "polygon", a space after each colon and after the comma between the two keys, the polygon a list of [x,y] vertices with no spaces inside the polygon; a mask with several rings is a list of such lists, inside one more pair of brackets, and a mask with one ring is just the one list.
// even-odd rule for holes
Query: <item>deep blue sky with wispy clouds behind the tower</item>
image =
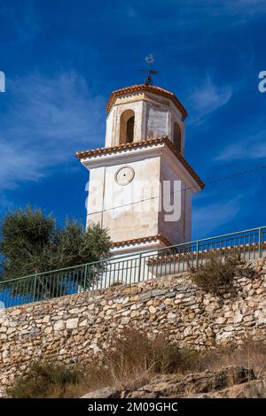
{"label": "deep blue sky with wispy clouds behind the tower", "polygon": [[[156,82],[189,112],[185,158],[203,181],[266,165],[264,0],[0,0],[0,215],[30,203],[85,221],[76,150],[101,147],[109,93]],[[207,185],[193,238],[266,225],[266,169]]]}

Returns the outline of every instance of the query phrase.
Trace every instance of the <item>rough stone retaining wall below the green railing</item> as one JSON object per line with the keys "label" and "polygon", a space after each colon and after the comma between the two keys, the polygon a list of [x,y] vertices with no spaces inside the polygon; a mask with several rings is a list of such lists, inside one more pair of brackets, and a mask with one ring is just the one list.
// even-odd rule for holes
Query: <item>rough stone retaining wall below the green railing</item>
{"label": "rough stone retaining wall below the green railing", "polygon": [[34,360],[85,365],[129,325],[195,349],[247,337],[266,342],[266,259],[254,266],[254,279],[236,276],[235,297],[208,294],[183,273],[2,310],[0,387]]}

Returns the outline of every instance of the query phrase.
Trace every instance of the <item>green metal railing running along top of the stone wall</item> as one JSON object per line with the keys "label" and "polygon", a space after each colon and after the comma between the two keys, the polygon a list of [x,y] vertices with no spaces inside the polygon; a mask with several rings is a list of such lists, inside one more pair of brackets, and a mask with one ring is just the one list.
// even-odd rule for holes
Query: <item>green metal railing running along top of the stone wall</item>
{"label": "green metal railing running along top of the stone wall", "polygon": [[10,307],[181,273],[202,263],[210,251],[221,257],[231,253],[246,260],[262,258],[265,240],[266,227],[259,227],[0,281],[0,302]]}

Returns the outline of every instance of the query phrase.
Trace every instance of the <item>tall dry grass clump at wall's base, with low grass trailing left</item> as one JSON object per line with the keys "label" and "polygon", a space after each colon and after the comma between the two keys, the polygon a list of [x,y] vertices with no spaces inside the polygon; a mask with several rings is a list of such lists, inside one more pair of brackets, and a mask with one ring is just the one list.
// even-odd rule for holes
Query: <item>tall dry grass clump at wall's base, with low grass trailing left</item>
{"label": "tall dry grass clump at wall's base, with low grass trailing left", "polygon": [[111,386],[137,389],[155,374],[183,373],[192,369],[198,354],[169,343],[165,335],[153,339],[134,327],[125,328],[105,351],[101,366],[87,366],[79,393]]}

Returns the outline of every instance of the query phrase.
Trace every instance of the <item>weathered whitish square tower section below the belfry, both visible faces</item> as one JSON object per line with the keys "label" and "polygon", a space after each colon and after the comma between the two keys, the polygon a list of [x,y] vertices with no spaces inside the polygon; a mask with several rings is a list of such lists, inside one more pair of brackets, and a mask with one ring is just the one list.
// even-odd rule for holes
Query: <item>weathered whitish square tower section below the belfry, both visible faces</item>
{"label": "weathered whitish square tower section below the belfry, both visible faces", "polygon": [[[90,169],[87,226],[99,222],[114,243],[157,234],[171,243],[191,240],[192,194],[200,186],[167,144],[98,156],[84,165]],[[115,175],[125,167],[134,177],[121,186]]]}

